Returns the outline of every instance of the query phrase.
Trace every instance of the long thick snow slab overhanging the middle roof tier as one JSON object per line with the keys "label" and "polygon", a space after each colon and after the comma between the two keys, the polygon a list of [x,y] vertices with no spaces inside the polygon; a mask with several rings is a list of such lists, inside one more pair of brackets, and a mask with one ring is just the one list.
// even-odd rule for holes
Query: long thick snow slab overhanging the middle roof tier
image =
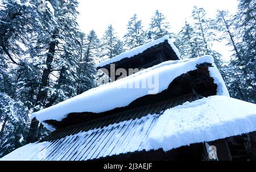
{"label": "long thick snow slab overhanging the middle roof tier", "polygon": [[[57,105],[40,110],[32,114],[32,118],[36,117],[40,122],[49,119],[61,121],[69,113],[102,113],[115,108],[121,108],[147,94],[156,94],[164,91],[175,78],[189,71],[196,70],[197,65],[205,62],[212,63],[213,65],[208,70],[214,83],[217,84],[217,94],[229,96],[224,80],[216,65],[214,65],[213,57],[205,55],[199,58],[160,63],[126,78],[90,89]],[[137,87],[134,85],[137,85]],[[46,123],[43,124],[49,130],[54,130],[54,128],[46,125]]]}

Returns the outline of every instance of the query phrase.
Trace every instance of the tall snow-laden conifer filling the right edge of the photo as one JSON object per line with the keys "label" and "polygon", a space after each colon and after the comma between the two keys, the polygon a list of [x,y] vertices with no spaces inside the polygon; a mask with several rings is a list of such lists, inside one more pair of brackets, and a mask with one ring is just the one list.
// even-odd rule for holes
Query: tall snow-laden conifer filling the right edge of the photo
{"label": "tall snow-laden conifer filling the right edge of the photo", "polygon": [[[254,103],[256,102],[255,12],[255,1],[240,0],[238,12],[233,19],[229,19],[225,11],[219,11],[217,16],[218,21],[225,28],[224,35],[228,37],[229,45],[233,47],[230,77],[234,79],[230,84],[230,94]],[[237,92],[237,88],[241,93]]]}

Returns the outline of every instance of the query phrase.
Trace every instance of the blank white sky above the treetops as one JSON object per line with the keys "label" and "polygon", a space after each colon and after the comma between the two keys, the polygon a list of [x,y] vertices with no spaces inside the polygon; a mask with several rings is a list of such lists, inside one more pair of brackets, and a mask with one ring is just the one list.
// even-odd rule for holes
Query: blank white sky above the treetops
{"label": "blank white sky above the treetops", "polygon": [[[214,18],[216,11],[229,10],[236,12],[237,0],[80,0],[78,22],[85,33],[94,29],[101,37],[109,24],[112,24],[119,38],[126,32],[126,25],[133,14],[147,28],[155,10],[159,10],[171,25],[171,32],[178,33],[186,18],[191,16],[193,6],[203,7],[210,18]],[[230,53],[224,44],[214,45],[224,57]]]}

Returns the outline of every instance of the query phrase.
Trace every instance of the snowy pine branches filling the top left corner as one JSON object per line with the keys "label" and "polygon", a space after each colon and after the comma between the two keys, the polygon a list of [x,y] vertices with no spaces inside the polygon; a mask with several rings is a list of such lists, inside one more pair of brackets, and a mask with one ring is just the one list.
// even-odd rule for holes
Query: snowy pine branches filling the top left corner
{"label": "snowy pine branches filling the top left corner", "polygon": [[18,65],[26,45],[38,25],[35,1],[2,1],[0,8],[0,51],[5,61]]}

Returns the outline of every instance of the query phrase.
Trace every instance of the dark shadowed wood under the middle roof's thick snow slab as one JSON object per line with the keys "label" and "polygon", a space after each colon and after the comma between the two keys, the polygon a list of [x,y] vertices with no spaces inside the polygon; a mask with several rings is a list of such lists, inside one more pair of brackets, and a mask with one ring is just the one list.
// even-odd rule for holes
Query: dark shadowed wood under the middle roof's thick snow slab
{"label": "dark shadowed wood under the middle roof's thick snow slab", "polygon": [[46,122],[56,128],[66,128],[68,126],[87,121],[104,121],[109,116],[113,117],[113,114],[123,114],[123,111],[140,109],[146,105],[158,104],[159,102],[181,97],[185,94],[197,93],[204,97],[216,95],[217,85],[214,84],[213,79],[209,76],[209,65],[210,64],[203,63],[197,66],[197,70],[189,71],[188,73],[177,77],[165,91],[138,98],[128,106],[115,108],[103,113],[71,113],[62,121],[48,120]]}

